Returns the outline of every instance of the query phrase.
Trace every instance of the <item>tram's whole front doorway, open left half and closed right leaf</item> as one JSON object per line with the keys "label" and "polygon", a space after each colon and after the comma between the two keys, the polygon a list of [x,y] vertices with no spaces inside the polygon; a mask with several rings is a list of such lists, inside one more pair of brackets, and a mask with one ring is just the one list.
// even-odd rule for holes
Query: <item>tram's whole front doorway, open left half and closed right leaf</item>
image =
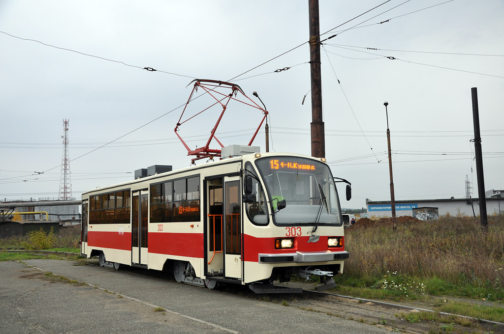
{"label": "tram's whole front doorway, open left half and closed right leaf", "polygon": [[208,276],[241,279],[240,178],[207,180]]}

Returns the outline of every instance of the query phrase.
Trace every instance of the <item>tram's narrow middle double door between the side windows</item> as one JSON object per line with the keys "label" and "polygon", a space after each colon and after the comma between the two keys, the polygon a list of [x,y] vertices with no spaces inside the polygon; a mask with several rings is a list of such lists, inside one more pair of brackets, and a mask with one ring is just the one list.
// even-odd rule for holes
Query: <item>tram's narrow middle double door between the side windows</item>
{"label": "tram's narrow middle double door between the side windows", "polygon": [[147,265],[147,232],[149,194],[147,191],[133,193],[132,219],[132,263]]}

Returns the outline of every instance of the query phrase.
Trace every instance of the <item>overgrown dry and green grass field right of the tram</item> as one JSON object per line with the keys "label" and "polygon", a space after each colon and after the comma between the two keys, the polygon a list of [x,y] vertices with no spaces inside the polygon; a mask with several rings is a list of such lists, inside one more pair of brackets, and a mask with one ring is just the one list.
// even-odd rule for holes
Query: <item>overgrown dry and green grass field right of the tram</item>
{"label": "overgrown dry and green grass field right of the tram", "polygon": [[488,218],[487,232],[479,217],[399,217],[396,231],[390,218],[359,220],[345,230],[350,258],[333,292],[393,301],[463,298],[460,306],[445,302],[436,310],[502,322],[504,216]]}

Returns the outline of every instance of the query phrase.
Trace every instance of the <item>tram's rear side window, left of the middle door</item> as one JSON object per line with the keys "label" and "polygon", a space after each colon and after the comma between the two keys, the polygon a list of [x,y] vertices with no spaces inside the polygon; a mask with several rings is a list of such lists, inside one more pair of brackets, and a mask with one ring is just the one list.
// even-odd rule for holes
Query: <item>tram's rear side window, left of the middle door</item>
{"label": "tram's rear side window, left of the middle door", "polygon": [[91,196],[90,224],[129,224],[131,212],[130,190]]}

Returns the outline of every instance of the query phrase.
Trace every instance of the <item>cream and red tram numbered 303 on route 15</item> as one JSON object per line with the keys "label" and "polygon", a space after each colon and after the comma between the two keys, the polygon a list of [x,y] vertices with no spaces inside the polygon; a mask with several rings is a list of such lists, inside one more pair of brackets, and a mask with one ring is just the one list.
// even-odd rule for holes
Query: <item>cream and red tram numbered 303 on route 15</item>
{"label": "cream and red tram numbered 303 on route 15", "polygon": [[[349,199],[347,186],[347,199]],[[82,195],[81,253],[100,265],[173,270],[177,282],[256,292],[343,272],[343,224],[325,159],[255,153]]]}

